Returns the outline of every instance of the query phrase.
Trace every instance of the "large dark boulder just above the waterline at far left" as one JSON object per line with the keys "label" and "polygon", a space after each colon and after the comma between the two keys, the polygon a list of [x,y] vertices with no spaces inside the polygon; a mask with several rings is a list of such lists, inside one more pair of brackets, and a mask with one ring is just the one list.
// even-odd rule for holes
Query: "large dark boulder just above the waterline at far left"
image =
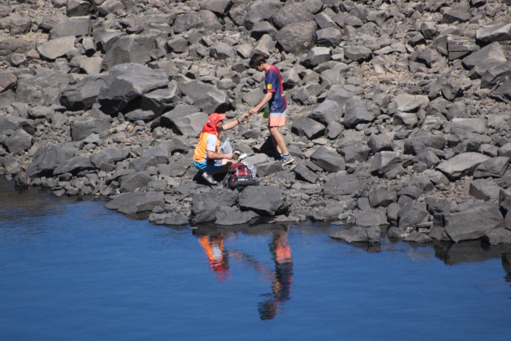
{"label": "large dark boulder just above the waterline at far left", "polygon": [[52,173],[55,168],[65,163],[69,158],[75,156],[75,151],[64,145],[51,145],[37,149],[32,157],[32,163],[27,167],[25,173],[33,176],[39,173]]}

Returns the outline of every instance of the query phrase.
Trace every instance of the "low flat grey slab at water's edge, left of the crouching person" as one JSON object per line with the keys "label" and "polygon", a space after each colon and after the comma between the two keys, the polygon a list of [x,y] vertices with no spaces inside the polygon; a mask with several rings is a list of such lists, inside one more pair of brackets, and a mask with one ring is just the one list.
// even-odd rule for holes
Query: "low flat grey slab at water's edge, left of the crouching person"
{"label": "low flat grey slab at water's edge, left of the crouching person", "polygon": [[152,211],[156,206],[165,206],[165,195],[159,192],[126,193],[105,204],[109,210],[134,214]]}

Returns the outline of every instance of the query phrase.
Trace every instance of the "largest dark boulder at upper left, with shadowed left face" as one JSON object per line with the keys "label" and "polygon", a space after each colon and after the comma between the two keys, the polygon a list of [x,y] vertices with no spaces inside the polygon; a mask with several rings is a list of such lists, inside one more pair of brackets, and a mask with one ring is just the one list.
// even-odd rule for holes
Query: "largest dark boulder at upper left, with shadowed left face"
{"label": "largest dark boulder at upper left, with shadowed left face", "polygon": [[166,86],[168,78],[162,70],[128,63],[113,67],[100,88],[98,102],[104,113],[112,114],[129,107],[142,95]]}

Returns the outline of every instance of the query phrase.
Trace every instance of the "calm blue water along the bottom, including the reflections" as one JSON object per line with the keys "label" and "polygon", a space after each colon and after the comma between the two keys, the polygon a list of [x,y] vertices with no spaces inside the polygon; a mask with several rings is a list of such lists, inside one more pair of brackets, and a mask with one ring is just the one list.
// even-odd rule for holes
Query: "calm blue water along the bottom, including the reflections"
{"label": "calm blue water along the bottom, including the reflections", "polygon": [[0,340],[511,339],[510,246],[368,248],[311,222],[171,229],[12,186]]}

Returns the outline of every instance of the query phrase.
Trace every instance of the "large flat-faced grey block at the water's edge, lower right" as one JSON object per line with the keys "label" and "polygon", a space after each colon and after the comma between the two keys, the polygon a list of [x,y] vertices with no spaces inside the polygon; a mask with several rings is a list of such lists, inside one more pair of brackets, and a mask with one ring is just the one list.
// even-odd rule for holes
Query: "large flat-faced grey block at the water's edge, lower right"
{"label": "large flat-faced grey block at the water's edge, lower right", "polygon": [[504,218],[495,202],[475,203],[462,212],[439,217],[440,226],[454,242],[481,238],[487,231],[504,223]]}

